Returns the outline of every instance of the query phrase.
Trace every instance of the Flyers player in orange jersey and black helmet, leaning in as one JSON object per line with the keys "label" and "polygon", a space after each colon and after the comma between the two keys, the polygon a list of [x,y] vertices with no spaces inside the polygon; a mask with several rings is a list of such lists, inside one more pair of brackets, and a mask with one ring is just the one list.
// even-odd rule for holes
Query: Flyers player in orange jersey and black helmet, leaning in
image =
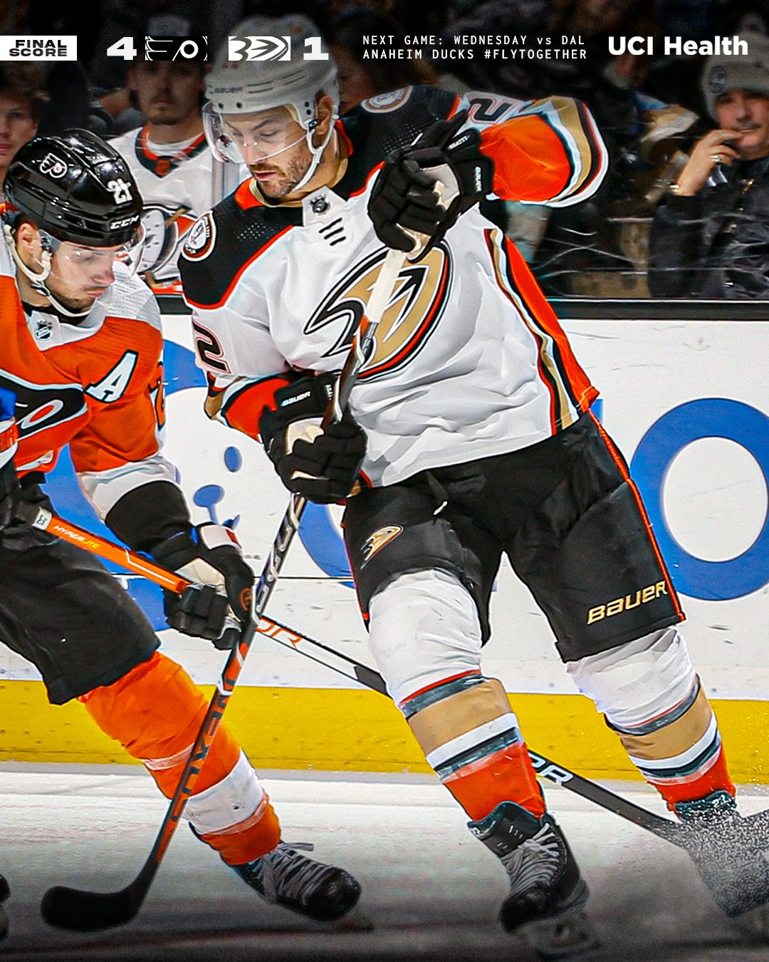
{"label": "Flyers player in orange jersey and black helmet, leaning in", "polygon": [[[69,444],[83,491],[126,544],[195,582],[168,595],[169,624],[228,647],[254,575],[236,538],[193,525],[161,454],[161,325],[132,275],[141,197],[109,144],[39,138],[6,180],[0,241],[0,641],[40,671],[50,700],[77,698],[170,797],[208,707],[131,597],[91,555],[15,519],[48,505],[45,472]],[[221,725],[186,805],[195,834],[270,901],[335,919],[348,873],[281,841],[257,773]]]}

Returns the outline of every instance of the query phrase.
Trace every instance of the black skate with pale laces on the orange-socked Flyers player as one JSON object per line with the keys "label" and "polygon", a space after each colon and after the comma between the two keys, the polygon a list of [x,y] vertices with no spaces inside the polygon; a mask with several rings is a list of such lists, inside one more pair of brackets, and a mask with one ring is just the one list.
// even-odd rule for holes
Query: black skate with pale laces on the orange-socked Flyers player
{"label": "black skate with pale laces on the orange-socked Flyers player", "polygon": [[360,884],[350,873],[315,862],[297,848],[312,850],[306,842],[279,842],[266,855],[231,868],[265,901],[285,905],[316,922],[341,919],[360,898]]}

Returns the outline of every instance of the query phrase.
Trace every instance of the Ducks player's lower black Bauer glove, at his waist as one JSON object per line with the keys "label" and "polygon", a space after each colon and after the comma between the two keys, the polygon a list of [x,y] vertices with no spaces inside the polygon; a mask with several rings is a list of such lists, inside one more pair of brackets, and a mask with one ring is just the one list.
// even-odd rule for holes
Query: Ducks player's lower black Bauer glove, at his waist
{"label": "Ducks player's lower black Bauer glove, at his waist", "polygon": [[366,453],[365,432],[348,411],[320,426],[335,380],[335,374],[321,374],[281,388],[275,392],[277,411],[264,408],[259,422],[261,441],[285,487],[318,504],[350,494]]}

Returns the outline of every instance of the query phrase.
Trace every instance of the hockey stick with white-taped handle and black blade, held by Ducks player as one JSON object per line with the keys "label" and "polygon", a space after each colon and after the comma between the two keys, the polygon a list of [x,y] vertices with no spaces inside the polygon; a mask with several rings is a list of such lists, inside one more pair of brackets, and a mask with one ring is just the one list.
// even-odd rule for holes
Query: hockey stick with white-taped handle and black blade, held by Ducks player
{"label": "hockey stick with white-taped handle and black blade, held by Ducks player", "polygon": [[[356,378],[365,363],[367,351],[373,342],[374,332],[387,303],[395,288],[398,274],[406,255],[401,251],[387,252],[385,262],[379,272],[368,305],[360,318],[360,324],[353,338],[350,352],[335,384],[334,396],[329,402],[323,424],[342,417],[344,406],[350,398]],[[267,605],[272,590],[283,567],[285,554],[299,528],[307,499],[300,494],[292,494],[278,534],[270,549],[269,556],[261,572],[254,596],[254,615],[243,625],[240,639],[227,657],[221,678],[209,704],[206,717],[200,726],[195,744],[189,752],[185,771],[179,779],[165,818],[161,823],[158,837],[136,878],[118,892],[87,892],[58,885],[49,889],[43,896],[40,911],[46,922],[61,928],[89,931],[95,928],[108,928],[112,925],[130,922],[136,916],[146,898],[155,874],[158,872],[162,857],[171,841],[176,826],[185,809],[187,799],[192,795],[195,782],[203,768],[211,742],[219,727],[230,696],[235,689],[237,678],[242,671],[246,655],[254,641],[257,623]]]}

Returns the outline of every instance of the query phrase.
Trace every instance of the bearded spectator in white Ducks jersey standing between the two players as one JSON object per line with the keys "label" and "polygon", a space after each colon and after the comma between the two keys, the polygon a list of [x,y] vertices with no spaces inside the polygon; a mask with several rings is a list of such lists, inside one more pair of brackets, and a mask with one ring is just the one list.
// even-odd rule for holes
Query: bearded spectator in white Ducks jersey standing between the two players
{"label": "bearded spectator in white Ducks jersey standing between the two players", "polygon": [[215,161],[206,142],[205,68],[196,60],[132,63],[128,87],[146,123],[111,141],[144,198],[138,270],[155,293],[181,293],[177,261],[186,232],[248,176],[242,165]]}

